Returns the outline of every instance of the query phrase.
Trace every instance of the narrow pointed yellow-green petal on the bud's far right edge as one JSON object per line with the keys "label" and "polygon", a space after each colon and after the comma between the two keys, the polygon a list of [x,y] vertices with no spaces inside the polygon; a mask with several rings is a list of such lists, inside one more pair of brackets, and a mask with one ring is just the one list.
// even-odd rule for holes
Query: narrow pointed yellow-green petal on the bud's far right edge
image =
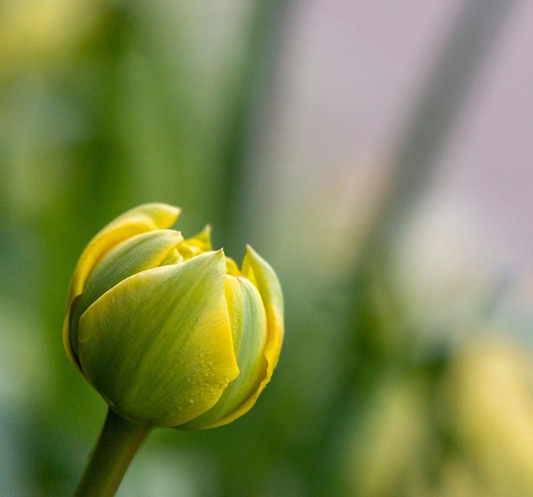
{"label": "narrow pointed yellow-green petal on the bud's far right edge", "polygon": [[278,363],[281,344],[284,336],[284,302],[279,279],[266,262],[252,247],[247,245],[246,255],[242,260],[241,273],[247,277],[259,290],[266,311],[266,326],[268,338],[264,356],[268,363],[266,377],[259,387],[257,395],[269,383],[272,372]]}

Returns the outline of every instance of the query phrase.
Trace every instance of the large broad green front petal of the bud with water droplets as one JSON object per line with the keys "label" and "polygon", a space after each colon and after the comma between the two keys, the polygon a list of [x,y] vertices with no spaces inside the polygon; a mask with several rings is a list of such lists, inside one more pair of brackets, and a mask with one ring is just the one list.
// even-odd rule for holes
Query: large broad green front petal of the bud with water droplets
{"label": "large broad green front petal of the bud with water droplets", "polygon": [[173,427],[217,402],[239,374],[222,251],[134,274],[80,319],[87,380],[120,415]]}

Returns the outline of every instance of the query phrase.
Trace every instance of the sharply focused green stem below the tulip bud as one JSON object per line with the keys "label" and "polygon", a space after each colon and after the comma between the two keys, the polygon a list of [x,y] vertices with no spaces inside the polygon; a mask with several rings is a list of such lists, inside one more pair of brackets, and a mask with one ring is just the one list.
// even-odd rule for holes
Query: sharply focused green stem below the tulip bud
{"label": "sharply focused green stem below the tulip bud", "polygon": [[74,497],[112,497],[136,451],[148,436],[149,424],[135,424],[107,411],[95,449]]}

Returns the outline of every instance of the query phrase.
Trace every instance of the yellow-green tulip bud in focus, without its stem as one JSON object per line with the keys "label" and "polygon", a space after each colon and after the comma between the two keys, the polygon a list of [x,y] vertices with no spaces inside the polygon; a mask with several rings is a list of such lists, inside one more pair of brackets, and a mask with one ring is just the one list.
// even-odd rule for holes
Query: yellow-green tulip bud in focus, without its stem
{"label": "yellow-green tulip bud in focus, without its stem", "polygon": [[210,230],[169,230],[180,210],[152,203],[109,223],[70,282],[63,327],[72,363],[132,422],[180,429],[242,416],[271,378],[283,340],[274,270],[251,247],[242,269]]}

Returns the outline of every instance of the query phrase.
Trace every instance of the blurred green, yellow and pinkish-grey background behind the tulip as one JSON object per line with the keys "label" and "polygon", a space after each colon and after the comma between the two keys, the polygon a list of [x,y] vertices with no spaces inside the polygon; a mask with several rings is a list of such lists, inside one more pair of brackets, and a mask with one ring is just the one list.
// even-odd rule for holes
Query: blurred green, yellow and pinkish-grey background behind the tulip
{"label": "blurred green, yellow and pinkish-grey background behind the tulip", "polygon": [[533,4],[3,0],[0,495],[74,490],[104,419],[61,339],[139,203],[276,268],[245,417],[156,430],[119,496],[533,495]]}

